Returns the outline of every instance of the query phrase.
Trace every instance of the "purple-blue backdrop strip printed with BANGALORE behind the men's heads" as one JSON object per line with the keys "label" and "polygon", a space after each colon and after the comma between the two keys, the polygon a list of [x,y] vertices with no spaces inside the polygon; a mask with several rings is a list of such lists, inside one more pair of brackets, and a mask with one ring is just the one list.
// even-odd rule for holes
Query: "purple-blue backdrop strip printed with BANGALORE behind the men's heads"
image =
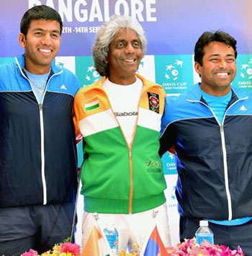
{"label": "purple-blue backdrop strip printed with BANGALORE behind the men's heads", "polygon": [[148,54],[192,54],[204,30],[225,30],[238,40],[238,53],[252,53],[251,0],[8,0],[0,1],[0,57],[17,56],[19,23],[38,4],[63,19],[60,56],[90,56],[97,28],[112,14],[136,17],[148,38]]}

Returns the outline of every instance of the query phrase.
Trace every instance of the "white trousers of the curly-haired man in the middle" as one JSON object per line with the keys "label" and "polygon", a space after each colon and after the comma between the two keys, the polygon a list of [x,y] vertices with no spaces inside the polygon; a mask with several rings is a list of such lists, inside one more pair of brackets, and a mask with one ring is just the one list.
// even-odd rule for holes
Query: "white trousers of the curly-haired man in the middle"
{"label": "white trousers of the curly-haired man in the middle", "polygon": [[155,226],[157,226],[164,246],[171,245],[166,203],[157,208],[134,214],[97,214],[84,211],[82,248],[84,248],[94,226],[97,226],[103,233],[103,230],[109,225],[114,225],[118,231],[119,252],[127,249],[130,251],[132,244],[138,244],[143,252]]}

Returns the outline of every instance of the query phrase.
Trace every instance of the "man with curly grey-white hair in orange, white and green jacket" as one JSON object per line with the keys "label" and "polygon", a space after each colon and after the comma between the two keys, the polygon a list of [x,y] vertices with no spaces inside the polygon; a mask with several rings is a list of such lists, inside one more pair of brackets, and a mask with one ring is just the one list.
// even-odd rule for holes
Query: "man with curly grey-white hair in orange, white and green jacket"
{"label": "man with curly grey-white hair in orange, white and green jacket", "polygon": [[166,93],[136,74],[145,52],[138,21],[114,15],[93,46],[94,66],[103,77],[76,94],[76,136],[84,139],[85,155],[83,246],[94,225],[102,233],[109,226],[117,230],[117,253],[135,243],[145,247],[155,226],[163,245],[170,244],[158,156]]}

